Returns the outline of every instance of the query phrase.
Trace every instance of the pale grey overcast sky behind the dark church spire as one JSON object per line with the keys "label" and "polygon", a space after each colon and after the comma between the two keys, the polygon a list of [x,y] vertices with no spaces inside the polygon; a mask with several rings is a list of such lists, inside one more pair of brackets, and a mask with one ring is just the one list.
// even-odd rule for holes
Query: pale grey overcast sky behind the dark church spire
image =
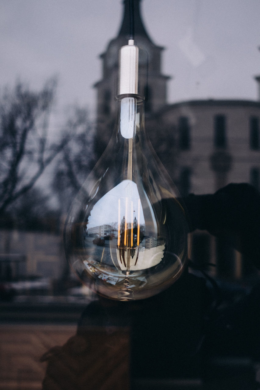
{"label": "pale grey overcast sky behind the dark church spire", "polygon": [[[0,87],[20,78],[32,88],[57,74],[56,111],[95,109],[99,55],[121,25],[122,0],[0,0]],[[164,46],[169,103],[256,99],[260,74],[259,0],[142,0],[144,25]]]}

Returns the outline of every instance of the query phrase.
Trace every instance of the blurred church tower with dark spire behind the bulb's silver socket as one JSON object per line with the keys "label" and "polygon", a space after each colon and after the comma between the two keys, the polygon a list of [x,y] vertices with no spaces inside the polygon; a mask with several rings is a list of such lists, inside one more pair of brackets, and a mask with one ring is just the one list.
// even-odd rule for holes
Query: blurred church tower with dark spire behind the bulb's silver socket
{"label": "blurred church tower with dark spire behind the bulb's silver socket", "polygon": [[[141,0],[134,0],[135,44],[148,53],[148,81],[146,82],[146,113],[154,115],[166,105],[166,83],[168,76],[161,74],[161,53],[164,49],[156,46],[146,32],[142,18]],[[129,0],[124,0],[123,20],[116,38],[112,39],[107,50],[100,55],[103,62],[102,80],[94,87],[97,90],[97,126],[102,140],[96,140],[95,149],[100,155],[108,143],[116,115],[116,85],[118,75],[118,51],[128,43],[130,32]]]}

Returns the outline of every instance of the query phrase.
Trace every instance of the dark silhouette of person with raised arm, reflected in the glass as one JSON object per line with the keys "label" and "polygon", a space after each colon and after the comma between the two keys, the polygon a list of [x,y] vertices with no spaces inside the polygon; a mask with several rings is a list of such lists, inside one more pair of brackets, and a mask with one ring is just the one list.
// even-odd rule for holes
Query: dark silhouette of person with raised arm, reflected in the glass
{"label": "dark silhouette of person with raised arm, reflected in the glass", "polygon": [[[260,267],[260,194],[253,187],[229,184],[212,195],[189,195],[185,204],[191,230],[207,230]],[[168,389],[167,378],[202,378],[203,389],[256,389],[253,365],[241,358],[260,358],[259,280],[238,294],[189,265],[175,284],[152,298],[100,298],[88,305],[75,337],[43,357],[48,360],[43,389]],[[95,326],[103,334],[93,339]],[[109,366],[108,376],[112,356],[117,363]],[[122,363],[129,356],[124,379],[117,359]],[[230,356],[240,363],[214,363]]]}

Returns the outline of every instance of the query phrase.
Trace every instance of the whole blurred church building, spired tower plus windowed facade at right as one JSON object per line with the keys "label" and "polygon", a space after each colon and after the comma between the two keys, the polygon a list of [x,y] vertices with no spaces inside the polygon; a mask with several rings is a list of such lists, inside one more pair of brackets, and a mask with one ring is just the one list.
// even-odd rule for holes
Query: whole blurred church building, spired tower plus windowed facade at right
{"label": "whole blurred church building, spired tower plus windowed facade at right", "polygon": [[[260,190],[260,98],[259,100],[192,100],[167,103],[167,80],[162,74],[163,47],[148,36],[141,18],[141,0],[135,6],[135,44],[148,52],[146,127],[155,151],[181,195],[214,193],[228,183],[250,183]],[[117,52],[129,36],[129,0],[124,1],[123,20],[118,36],[109,42],[100,57],[102,79],[97,90],[97,127],[104,135],[96,139],[101,154],[115,126]],[[260,85],[260,76],[256,77]],[[231,269],[231,277],[243,274],[239,253],[226,250],[218,259],[215,239],[203,232],[193,238],[193,256],[208,259],[221,271],[221,262]],[[223,251],[220,251],[223,253]],[[228,263],[228,264],[227,264]]]}

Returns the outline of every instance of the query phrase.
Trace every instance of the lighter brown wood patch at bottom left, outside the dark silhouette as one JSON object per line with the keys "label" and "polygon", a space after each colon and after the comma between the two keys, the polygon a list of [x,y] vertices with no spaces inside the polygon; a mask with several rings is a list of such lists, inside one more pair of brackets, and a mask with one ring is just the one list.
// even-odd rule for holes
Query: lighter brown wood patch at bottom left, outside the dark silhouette
{"label": "lighter brown wood patch at bottom left, outside the dark silhouette", "polygon": [[0,390],[42,388],[41,356],[75,335],[76,326],[0,325]]}

